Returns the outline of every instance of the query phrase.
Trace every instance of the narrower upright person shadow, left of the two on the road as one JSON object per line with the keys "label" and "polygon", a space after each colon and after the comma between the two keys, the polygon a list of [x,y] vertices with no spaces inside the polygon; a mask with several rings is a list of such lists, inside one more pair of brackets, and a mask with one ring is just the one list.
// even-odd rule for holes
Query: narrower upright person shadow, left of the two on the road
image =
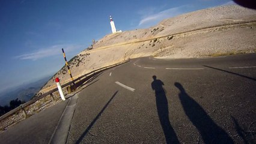
{"label": "narrower upright person shadow, left of the two on the road", "polygon": [[179,143],[177,135],[169,122],[168,101],[165,95],[165,90],[163,89],[163,85],[164,84],[161,80],[156,79],[156,76],[153,76],[151,88],[156,94],[157,113],[160,124],[162,125],[163,133],[165,134],[166,143]]}

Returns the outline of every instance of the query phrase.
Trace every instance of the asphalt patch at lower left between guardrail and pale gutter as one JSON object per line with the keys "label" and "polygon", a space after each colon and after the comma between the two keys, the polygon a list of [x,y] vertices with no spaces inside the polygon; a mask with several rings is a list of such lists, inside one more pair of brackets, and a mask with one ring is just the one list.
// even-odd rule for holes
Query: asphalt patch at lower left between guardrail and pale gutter
{"label": "asphalt patch at lower left between guardrail and pale gutter", "polygon": [[49,107],[0,134],[0,143],[48,143],[67,101]]}

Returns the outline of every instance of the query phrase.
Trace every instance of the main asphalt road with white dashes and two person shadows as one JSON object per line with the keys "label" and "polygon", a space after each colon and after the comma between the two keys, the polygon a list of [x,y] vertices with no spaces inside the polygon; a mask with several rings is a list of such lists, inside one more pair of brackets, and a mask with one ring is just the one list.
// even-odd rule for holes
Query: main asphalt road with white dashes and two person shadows
{"label": "main asphalt road with white dashes and two person shadows", "polygon": [[256,143],[255,87],[255,54],[132,59],[78,94],[67,143]]}

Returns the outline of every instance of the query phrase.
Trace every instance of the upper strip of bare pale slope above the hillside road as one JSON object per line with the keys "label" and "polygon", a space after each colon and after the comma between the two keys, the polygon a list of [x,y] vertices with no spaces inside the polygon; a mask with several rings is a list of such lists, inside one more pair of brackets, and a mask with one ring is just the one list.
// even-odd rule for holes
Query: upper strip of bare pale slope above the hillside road
{"label": "upper strip of bare pale slope above the hillside road", "polygon": [[238,5],[198,10],[171,19],[162,20],[158,25],[149,29],[138,29],[106,35],[95,44],[94,49],[116,43],[147,40],[148,38],[161,37],[215,25],[256,20],[255,14],[255,10],[243,8]]}

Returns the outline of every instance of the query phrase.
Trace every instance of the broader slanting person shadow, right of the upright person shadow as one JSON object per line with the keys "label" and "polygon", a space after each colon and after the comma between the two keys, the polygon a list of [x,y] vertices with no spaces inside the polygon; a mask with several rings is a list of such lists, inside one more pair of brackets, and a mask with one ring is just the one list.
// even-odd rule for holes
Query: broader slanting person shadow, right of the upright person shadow
{"label": "broader slanting person shadow, right of the upright person shadow", "polygon": [[183,86],[175,82],[174,85],[180,89],[180,102],[189,120],[197,127],[204,143],[234,143],[230,136],[210,118],[204,109],[187,95]]}

